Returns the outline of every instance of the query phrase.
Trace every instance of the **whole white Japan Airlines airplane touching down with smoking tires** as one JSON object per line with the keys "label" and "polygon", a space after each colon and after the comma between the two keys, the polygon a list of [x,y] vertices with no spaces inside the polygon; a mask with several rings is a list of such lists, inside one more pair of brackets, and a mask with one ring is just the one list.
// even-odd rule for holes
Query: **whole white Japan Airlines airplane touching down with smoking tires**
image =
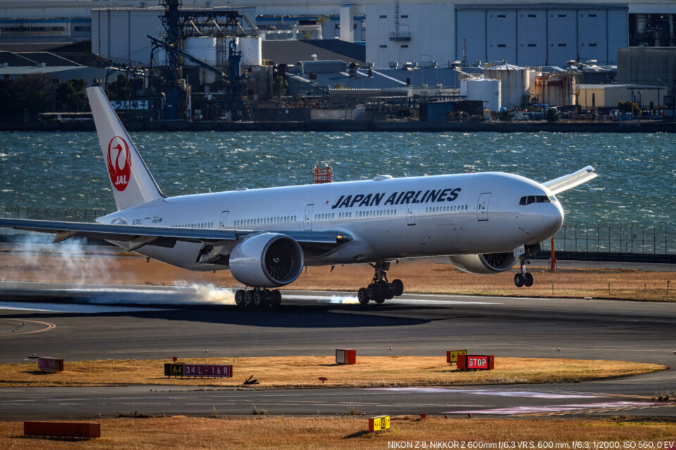
{"label": "whole white Japan Airlines airplane touching down with smoking tires", "polygon": [[94,223],[0,219],[0,226],[53,233],[54,242],[98,238],[193,271],[230,269],[246,288],[239,307],[277,307],[281,286],[306,266],[371,264],[361,304],[403,293],[390,264],[444,255],[475,274],[508,271],[518,287],[539,243],[563,224],[556,194],[596,177],[591,166],[545,183],[502,172],[238,189],[166,197],[99,86],[87,88],[117,212]]}

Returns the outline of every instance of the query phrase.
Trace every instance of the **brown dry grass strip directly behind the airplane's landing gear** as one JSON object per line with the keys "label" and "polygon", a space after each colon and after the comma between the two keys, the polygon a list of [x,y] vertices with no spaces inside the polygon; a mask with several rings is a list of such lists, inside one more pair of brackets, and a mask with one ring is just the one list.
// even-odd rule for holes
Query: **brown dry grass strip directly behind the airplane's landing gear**
{"label": "brown dry grass strip directly behind the airplane's landing gear", "polygon": [[[32,252],[0,250],[0,276],[8,281],[53,281],[70,283],[122,283],[174,285],[211,283],[234,287],[239,283],[230,271],[193,272],[144,257],[121,253],[97,255],[64,252],[65,247],[40,246]],[[100,252],[100,250],[98,250]],[[676,280],[667,295],[667,282],[673,272],[621,269],[558,269],[550,272],[534,269],[532,288],[516,288],[513,271],[494,275],[465,274],[452,264],[429,260],[407,260],[392,264],[390,280],[401,278],[409,293],[449,293],[465,295],[506,295],[540,297],[594,297],[627,300],[675,301]],[[287,289],[344,290],[356,293],[373,276],[368,264],[310,267]],[[610,289],[608,289],[610,286]]]}

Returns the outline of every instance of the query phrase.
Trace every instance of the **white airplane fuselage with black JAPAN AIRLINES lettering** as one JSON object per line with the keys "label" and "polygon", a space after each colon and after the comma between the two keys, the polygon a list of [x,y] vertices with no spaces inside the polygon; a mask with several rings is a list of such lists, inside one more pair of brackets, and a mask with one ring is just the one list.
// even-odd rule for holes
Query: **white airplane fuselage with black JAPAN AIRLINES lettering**
{"label": "white airplane fuselage with black JAPAN AIRLINES lettering", "polygon": [[[520,205],[524,196],[551,202]],[[256,231],[344,231],[352,240],[306,265],[382,259],[511,252],[553,236],[563,210],[542,184],[488,172],[384,178],[155,200],[101,217],[111,223]],[[227,269],[196,263],[201,243],[146,245],[137,252],[192,270]]]}

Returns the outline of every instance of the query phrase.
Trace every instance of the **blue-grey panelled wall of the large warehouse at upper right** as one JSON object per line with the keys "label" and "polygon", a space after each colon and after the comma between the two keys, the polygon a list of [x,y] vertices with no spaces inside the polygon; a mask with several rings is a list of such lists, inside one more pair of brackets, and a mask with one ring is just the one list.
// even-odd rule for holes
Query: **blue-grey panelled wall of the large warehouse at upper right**
{"label": "blue-grey panelled wall of the large warehouse at upper right", "polygon": [[[549,5],[548,5],[549,6]],[[490,8],[456,6],[456,58],[463,39],[470,63],[506,60],[517,65],[565,65],[579,59],[617,62],[627,46],[627,8]]]}

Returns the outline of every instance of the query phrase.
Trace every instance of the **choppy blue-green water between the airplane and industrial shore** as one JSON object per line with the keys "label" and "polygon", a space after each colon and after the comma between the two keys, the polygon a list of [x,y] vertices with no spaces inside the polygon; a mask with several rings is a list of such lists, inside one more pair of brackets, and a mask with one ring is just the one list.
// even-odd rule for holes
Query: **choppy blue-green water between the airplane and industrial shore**
{"label": "choppy blue-green water between the airplane and industrial shore", "polygon": [[[336,181],[502,171],[546,181],[593,165],[561,194],[568,223],[672,225],[672,134],[135,133],[166,195],[307,184],[316,161]],[[0,205],[114,210],[96,134],[0,133]]]}

